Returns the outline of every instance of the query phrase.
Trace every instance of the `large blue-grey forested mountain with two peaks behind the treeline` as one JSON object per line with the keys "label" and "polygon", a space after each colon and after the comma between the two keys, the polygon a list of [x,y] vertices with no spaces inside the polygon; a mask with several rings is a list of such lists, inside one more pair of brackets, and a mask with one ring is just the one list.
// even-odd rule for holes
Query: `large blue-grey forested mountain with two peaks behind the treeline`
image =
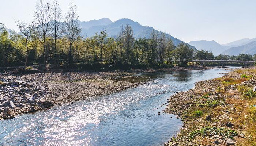
{"label": "large blue-grey forested mountain with two peaks behind the treeline", "polygon": [[[111,36],[111,37],[116,37],[118,33],[121,31],[121,27],[125,27],[126,24],[129,24],[132,27],[133,30],[133,36],[135,38],[150,38],[151,32],[154,30],[153,27],[150,26],[142,26],[138,22],[135,22],[133,20],[127,19],[127,18],[122,18],[119,19],[115,22],[110,23],[108,21],[108,18],[103,18],[105,21],[105,24],[98,25],[99,23],[97,21],[101,20],[93,20],[94,22],[92,23],[91,21],[89,22],[81,22],[81,29],[82,29],[82,34],[87,35],[89,37],[95,35],[96,32],[100,32],[103,29],[106,29],[106,33]],[[107,20],[108,19],[108,20]],[[89,25],[90,23],[90,25]],[[109,23],[109,24],[106,24]],[[90,27],[89,27],[90,26]],[[161,32],[156,30],[157,32]],[[173,36],[166,34],[166,38],[171,38],[174,45],[178,45],[180,43],[185,43],[181,41],[180,39],[174,38]],[[187,44],[187,43],[186,43]],[[188,44],[189,45],[189,44]],[[189,45],[191,48],[195,49],[194,46]]]}

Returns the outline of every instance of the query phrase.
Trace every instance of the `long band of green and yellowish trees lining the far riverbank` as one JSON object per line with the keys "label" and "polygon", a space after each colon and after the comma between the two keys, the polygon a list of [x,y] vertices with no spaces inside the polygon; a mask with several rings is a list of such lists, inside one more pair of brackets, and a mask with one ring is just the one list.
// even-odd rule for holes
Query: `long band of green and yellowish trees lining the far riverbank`
{"label": "long band of green and yellowish trees lining the far riverbank", "polygon": [[58,64],[66,69],[186,66],[191,59],[255,60],[255,55],[217,55],[175,46],[164,32],[151,32],[151,38],[133,37],[132,27],[121,26],[119,34],[109,37],[106,29],[93,37],[80,34],[76,5],[71,3],[62,16],[58,1],[38,1],[33,22],[15,20],[19,32],[0,23],[0,66]]}

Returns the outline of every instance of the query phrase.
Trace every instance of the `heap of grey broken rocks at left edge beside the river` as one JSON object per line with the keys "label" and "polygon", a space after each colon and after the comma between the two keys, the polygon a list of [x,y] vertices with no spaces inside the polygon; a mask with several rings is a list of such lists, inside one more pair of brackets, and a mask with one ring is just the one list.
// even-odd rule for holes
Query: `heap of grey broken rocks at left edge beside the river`
{"label": "heap of grey broken rocks at left edge beside the river", "polygon": [[19,78],[0,78],[0,81],[0,119],[53,106],[46,100],[48,88],[40,82],[32,84]]}

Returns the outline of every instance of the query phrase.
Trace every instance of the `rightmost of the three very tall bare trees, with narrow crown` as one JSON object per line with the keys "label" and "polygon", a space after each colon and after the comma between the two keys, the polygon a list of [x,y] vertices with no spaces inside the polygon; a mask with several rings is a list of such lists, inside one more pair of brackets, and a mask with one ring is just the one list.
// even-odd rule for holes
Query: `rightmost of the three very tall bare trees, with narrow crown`
{"label": "rightmost of the three very tall bare trees, with narrow crown", "polygon": [[68,8],[68,12],[65,15],[65,32],[69,40],[69,51],[67,62],[70,65],[72,58],[72,45],[80,34],[81,29],[79,28],[78,16],[76,15],[76,5],[71,3]]}

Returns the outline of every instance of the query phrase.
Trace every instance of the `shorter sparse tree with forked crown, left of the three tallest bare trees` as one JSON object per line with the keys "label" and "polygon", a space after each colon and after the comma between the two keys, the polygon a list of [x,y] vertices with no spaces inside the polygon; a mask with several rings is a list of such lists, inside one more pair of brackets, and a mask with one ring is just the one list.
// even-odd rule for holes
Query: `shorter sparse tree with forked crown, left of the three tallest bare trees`
{"label": "shorter sparse tree with forked crown, left of the three tallest bare trees", "polygon": [[27,24],[26,22],[21,21],[15,21],[17,27],[19,28],[22,35],[18,35],[17,37],[21,40],[21,45],[16,41],[16,37],[14,35],[11,35],[11,38],[16,42],[17,46],[20,49],[25,49],[26,51],[26,57],[25,57],[25,64],[24,68],[26,68],[27,65],[27,57],[29,55],[30,48],[34,45],[34,41],[37,39],[35,37],[35,23]]}

